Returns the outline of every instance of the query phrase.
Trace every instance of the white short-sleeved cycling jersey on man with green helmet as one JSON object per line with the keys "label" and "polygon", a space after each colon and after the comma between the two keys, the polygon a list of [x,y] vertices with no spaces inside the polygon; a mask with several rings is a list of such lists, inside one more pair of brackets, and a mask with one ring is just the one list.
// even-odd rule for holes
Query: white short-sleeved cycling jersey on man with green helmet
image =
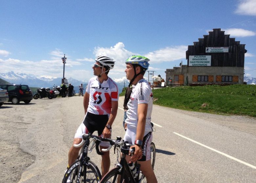
{"label": "white short-sleeved cycling jersey on man with green helmet", "polygon": [[148,104],[147,116],[146,116],[146,126],[145,132],[152,132],[151,126],[151,113],[153,108],[153,93],[151,87],[145,79],[141,79],[138,83],[133,86],[130,100],[128,101],[126,111],[128,128],[136,128],[138,125],[138,104]]}

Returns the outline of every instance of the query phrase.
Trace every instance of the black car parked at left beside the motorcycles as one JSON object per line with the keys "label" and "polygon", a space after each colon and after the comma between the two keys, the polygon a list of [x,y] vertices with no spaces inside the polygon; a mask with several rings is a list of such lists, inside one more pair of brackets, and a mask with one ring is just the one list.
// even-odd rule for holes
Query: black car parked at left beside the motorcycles
{"label": "black car parked at left beside the motorcycles", "polygon": [[12,104],[18,104],[20,101],[28,104],[33,99],[32,92],[28,85],[0,84],[0,88],[7,90],[9,95],[8,102]]}

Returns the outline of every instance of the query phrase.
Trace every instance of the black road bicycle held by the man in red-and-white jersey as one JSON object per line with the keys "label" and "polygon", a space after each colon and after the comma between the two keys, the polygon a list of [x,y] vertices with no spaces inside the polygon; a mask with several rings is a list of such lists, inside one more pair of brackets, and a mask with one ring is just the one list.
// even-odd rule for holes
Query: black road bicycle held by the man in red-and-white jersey
{"label": "black road bicycle held by the man in red-and-white jersey", "polygon": [[97,154],[102,155],[103,153],[99,150],[100,141],[98,140],[100,139],[101,141],[103,141],[104,139],[96,135],[92,135],[91,133],[83,134],[82,138],[83,140],[81,141],[81,143],[77,145],[74,144],[74,147],[80,147],[83,145],[81,154],[78,156],[77,160],[70,166],[70,168],[66,170],[65,175],[62,179],[62,183],[99,183],[101,179],[101,174],[98,167],[95,165],[94,162],[90,160],[87,154],[90,144],[90,138],[93,138],[93,143],[89,151],[91,152],[92,149],[95,147]]}

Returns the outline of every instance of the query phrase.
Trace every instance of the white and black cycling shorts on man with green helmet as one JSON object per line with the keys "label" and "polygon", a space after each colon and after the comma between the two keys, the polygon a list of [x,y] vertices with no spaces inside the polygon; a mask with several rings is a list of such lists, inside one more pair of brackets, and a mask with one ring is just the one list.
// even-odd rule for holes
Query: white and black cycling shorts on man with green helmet
{"label": "white and black cycling shorts on man with green helmet", "polygon": [[[134,144],[136,140],[136,128],[127,128],[124,138],[124,141],[128,141],[130,144]],[[147,161],[151,159],[151,151],[150,151],[150,145],[152,142],[153,136],[152,132],[145,132],[143,137],[143,144],[142,144],[142,158],[138,159],[138,161]]]}

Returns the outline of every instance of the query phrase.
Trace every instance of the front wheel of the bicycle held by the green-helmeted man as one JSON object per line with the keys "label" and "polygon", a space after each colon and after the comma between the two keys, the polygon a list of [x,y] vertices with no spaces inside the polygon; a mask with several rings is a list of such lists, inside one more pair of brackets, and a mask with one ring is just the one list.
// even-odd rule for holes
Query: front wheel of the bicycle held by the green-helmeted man
{"label": "front wheel of the bicycle held by the green-helmeted man", "polygon": [[120,167],[113,168],[110,170],[100,181],[100,183],[129,183],[128,175],[124,173],[122,180],[118,181],[118,177],[120,179]]}

